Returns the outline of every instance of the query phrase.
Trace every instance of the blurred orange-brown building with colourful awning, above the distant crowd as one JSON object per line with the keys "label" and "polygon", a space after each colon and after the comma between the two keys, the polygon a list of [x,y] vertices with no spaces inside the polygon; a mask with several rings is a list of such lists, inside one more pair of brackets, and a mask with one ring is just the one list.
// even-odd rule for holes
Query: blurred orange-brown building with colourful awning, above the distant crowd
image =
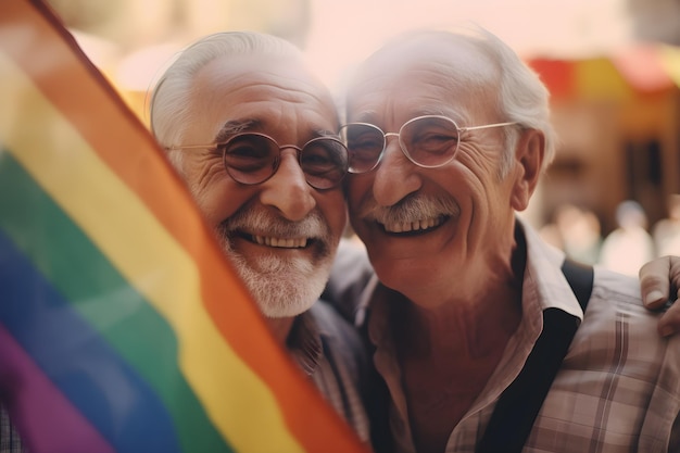
{"label": "blurred orange-brown building with colourful awning, above the distant crowd", "polygon": [[652,224],[665,217],[667,196],[680,192],[678,48],[643,45],[529,63],[551,89],[561,140],[536,221],[572,203],[595,212],[606,234],[622,200],[642,204]]}

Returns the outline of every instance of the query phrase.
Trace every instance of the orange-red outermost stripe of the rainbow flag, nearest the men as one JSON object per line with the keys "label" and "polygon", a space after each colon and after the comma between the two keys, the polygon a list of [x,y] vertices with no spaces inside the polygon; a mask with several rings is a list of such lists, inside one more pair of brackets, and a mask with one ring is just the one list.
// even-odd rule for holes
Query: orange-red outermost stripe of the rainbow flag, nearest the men
{"label": "orange-red outermost stripe of the rainbow flag, nearest the men", "polygon": [[[213,247],[212,231],[201,221],[184,183],[171,168],[163,151],[83,54],[60,21],[39,1],[32,4],[5,1],[0,9],[0,46],[192,256],[201,273],[201,293],[213,322],[231,348],[276,394],[288,426],[300,443],[307,451],[362,451],[349,426],[340,423],[282,348],[275,343],[234,270],[225,272],[231,269],[230,264],[218,248]],[[3,36],[12,32],[9,25],[13,23],[30,24],[30,39]],[[45,71],[46,62],[56,63],[54,71]],[[93,115],[97,122],[92,122]],[[101,129],[98,129],[102,127],[109,137],[116,137],[115,142],[102,140]],[[137,152],[122,152],[123,149]],[[131,161],[131,156],[136,160]],[[190,215],[192,212],[194,215]],[[229,303],[224,303],[227,299]],[[257,339],[262,341],[254,341]]]}

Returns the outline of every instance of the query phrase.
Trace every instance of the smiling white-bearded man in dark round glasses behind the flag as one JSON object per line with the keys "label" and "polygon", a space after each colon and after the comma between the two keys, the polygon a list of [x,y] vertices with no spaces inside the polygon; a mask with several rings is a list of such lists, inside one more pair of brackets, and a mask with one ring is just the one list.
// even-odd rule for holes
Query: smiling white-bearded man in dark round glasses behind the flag
{"label": "smiling white-bearded man in dark round glasses behind the flag", "polygon": [[347,225],[326,87],[282,39],[215,34],[161,77],[151,128],[276,338],[368,443],[360,337],[318,300]]}

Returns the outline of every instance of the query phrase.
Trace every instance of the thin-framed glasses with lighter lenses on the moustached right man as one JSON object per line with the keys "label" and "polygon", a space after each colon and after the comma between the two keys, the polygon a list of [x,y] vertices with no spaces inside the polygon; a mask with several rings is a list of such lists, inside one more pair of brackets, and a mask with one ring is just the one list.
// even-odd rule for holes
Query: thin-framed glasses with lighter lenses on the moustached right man
{"label": "thin-framed glasses with lighter lenses on the moustached right man", "polygon": [[349,152],[350,173],[366,173],[378,166],[387,148],[387,138],[395,136],[406,158],[424,168],[437,168],[455,158],[461,136],[467,130],[512,126],[495,123],[483,126],[458,127],[451,118],[440,115],[418,116],[407,121],[399,133],[383,133],[368,123],[350,123],[340,128],[340,140]]}

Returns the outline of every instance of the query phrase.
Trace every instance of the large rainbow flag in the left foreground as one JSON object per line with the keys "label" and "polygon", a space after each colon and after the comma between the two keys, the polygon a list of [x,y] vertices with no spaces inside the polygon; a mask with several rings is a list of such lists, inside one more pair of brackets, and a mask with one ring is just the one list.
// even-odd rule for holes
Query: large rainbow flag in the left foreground
{"label": "large rainbow flag in the left foreground", "polygon": [[363,451],[45,4],[0,2],[0,395],[32,453]]}

